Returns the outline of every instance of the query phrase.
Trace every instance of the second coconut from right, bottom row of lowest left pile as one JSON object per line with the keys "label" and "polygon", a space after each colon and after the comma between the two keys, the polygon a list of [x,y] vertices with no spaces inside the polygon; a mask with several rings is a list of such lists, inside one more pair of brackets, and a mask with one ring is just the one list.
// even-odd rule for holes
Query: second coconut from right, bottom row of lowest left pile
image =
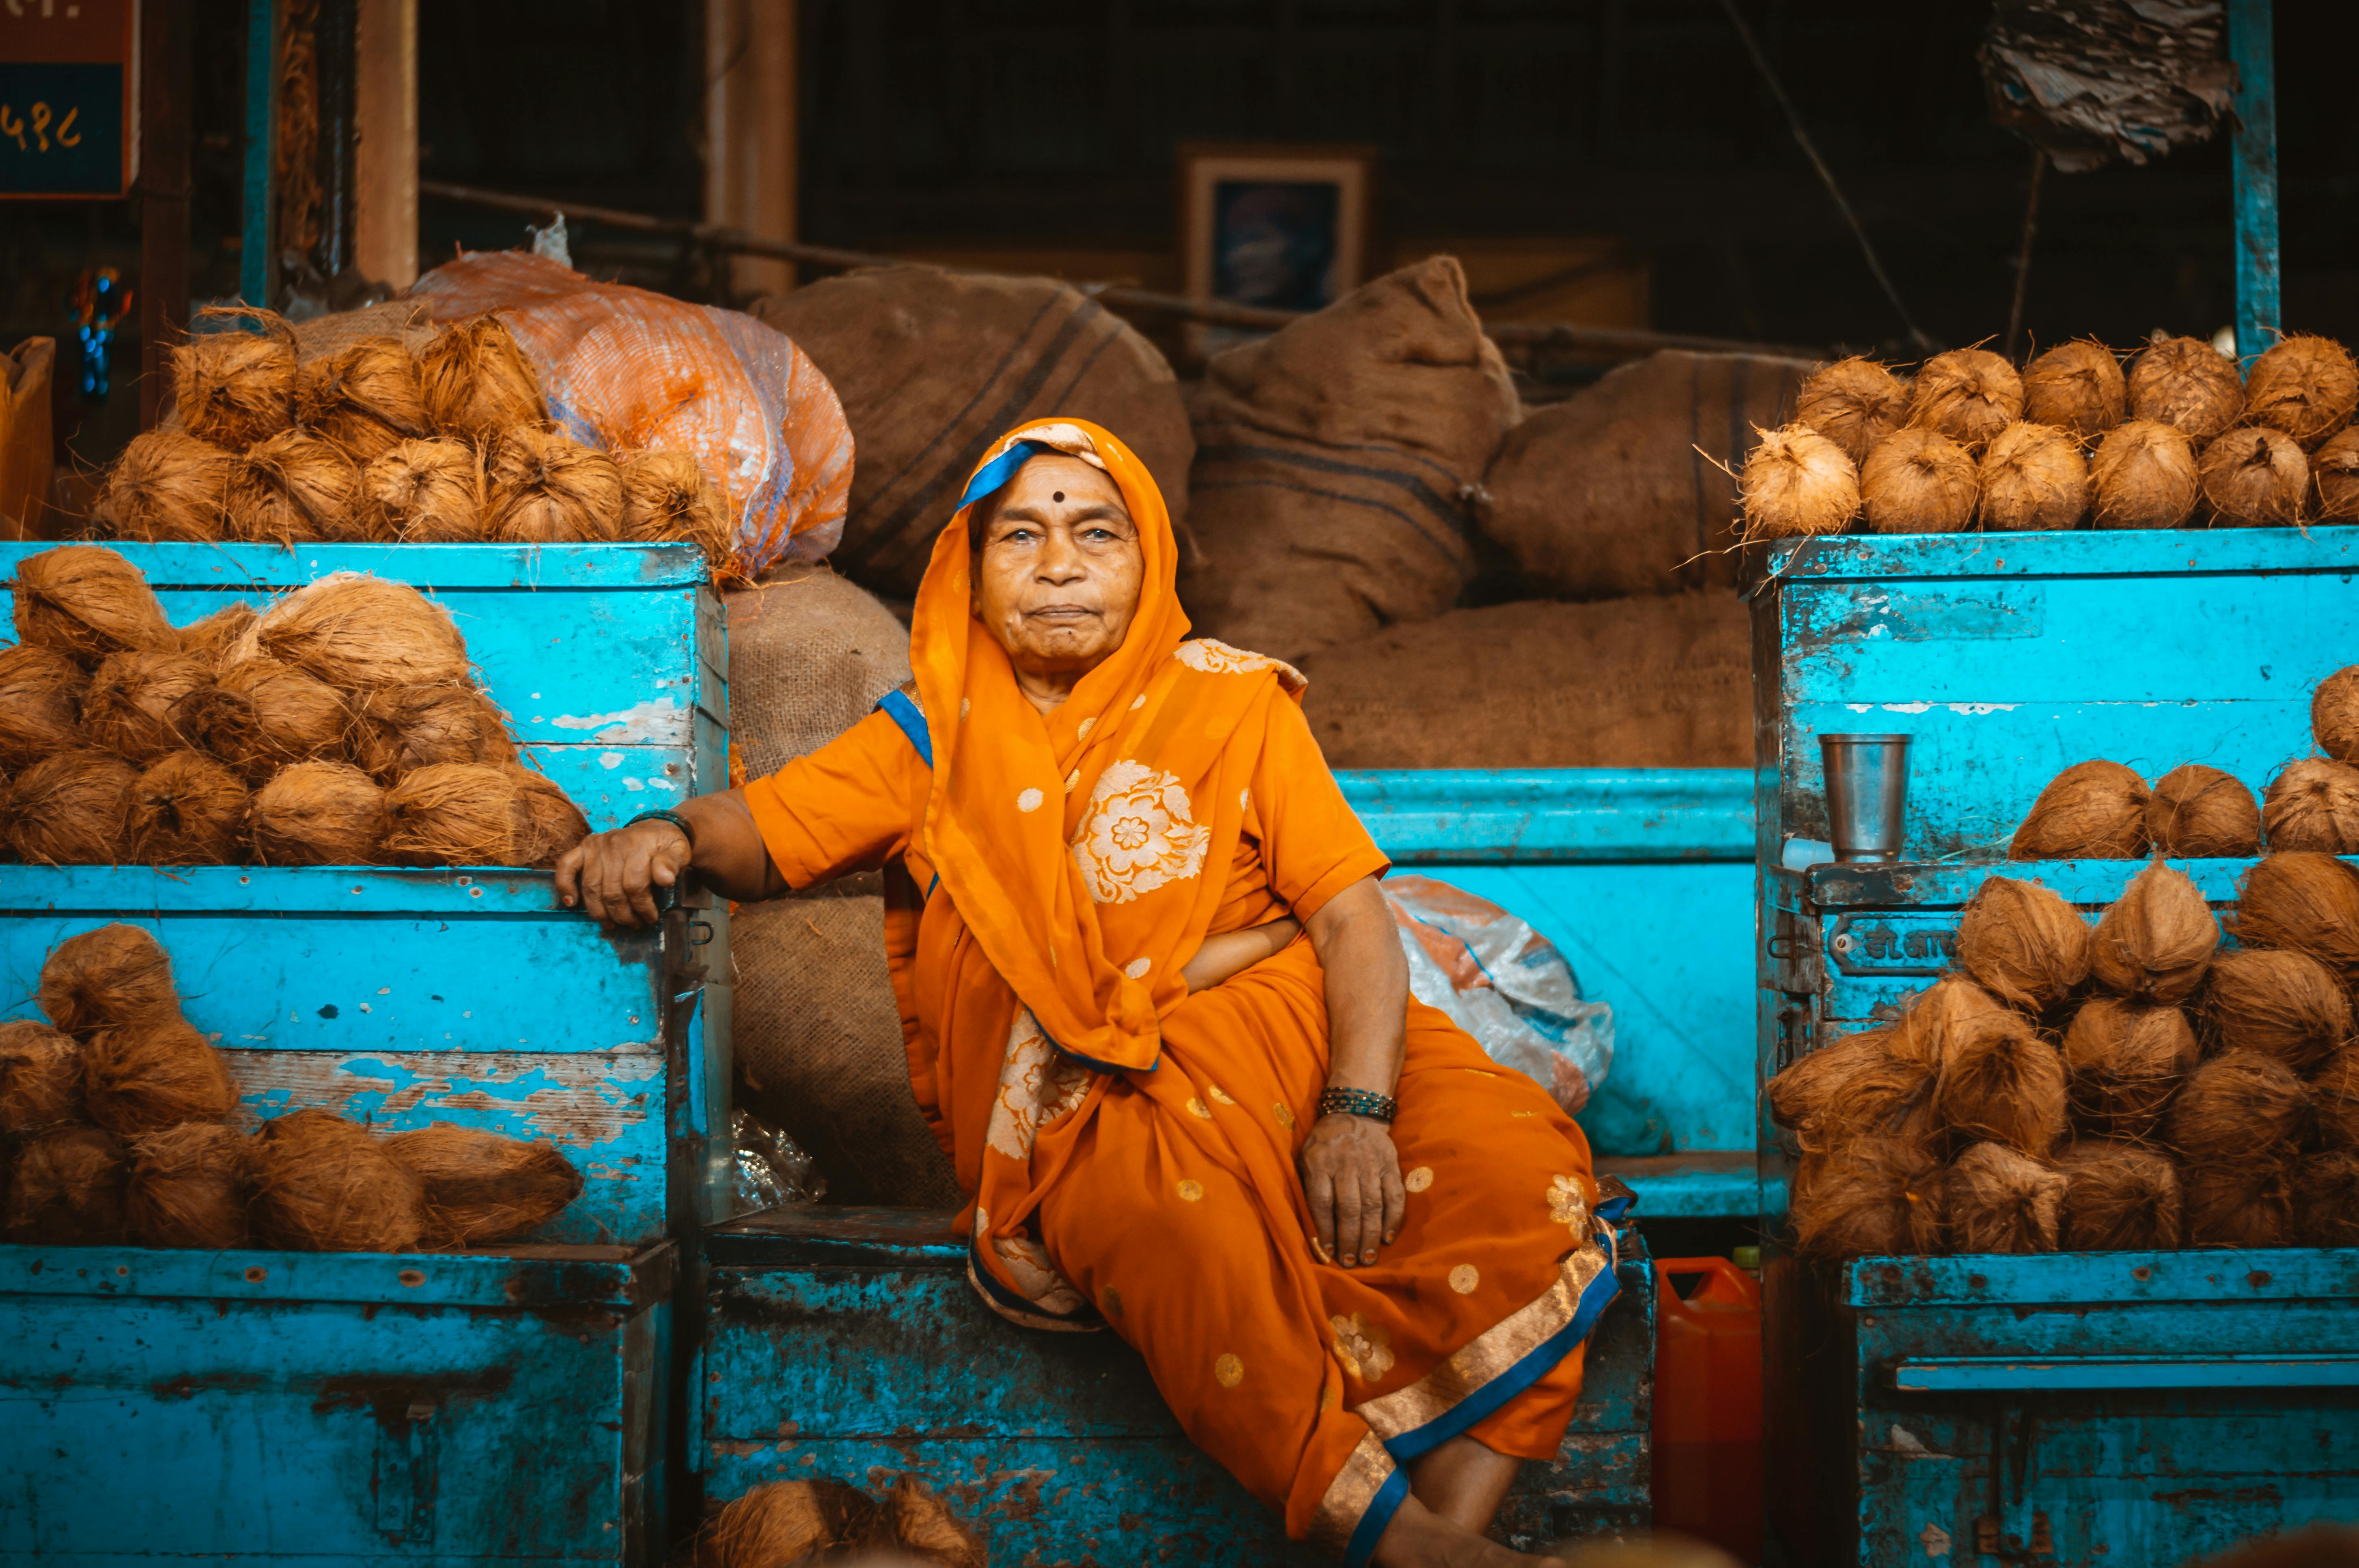
{"label": "second coconut from right, bottom row of lowest left pile", "polygon": [[333,1111],[262,1122],[248,1148],[255,1240],[297,1252],[410,1252],[425,1186],[368,1129]]}

